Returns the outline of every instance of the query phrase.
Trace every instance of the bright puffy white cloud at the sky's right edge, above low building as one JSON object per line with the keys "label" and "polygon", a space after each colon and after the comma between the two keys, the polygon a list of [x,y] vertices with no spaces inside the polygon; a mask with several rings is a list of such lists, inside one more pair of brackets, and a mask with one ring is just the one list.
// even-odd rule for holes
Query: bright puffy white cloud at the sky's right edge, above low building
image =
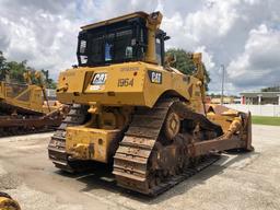
{"label": "bright puffy white cloud at the sky's right edge, above low building", "polygon": [[280,31],[261,24],[249,32],[244,52],[232,60],[229,79],[238,89],[280,83]]}

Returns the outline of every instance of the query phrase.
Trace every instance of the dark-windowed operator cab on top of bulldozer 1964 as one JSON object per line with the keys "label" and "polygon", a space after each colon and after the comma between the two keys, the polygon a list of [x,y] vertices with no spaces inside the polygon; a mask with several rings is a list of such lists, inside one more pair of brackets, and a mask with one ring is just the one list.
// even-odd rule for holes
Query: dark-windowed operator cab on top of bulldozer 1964
{"label": "dark-windowed operator cab on top of bulldozer 1964", "polygon": [[[149,16],[144,12],[136,12],[83,26],[78,38],[79,66],[96,67],[128,61],[148,61],[147,19]],[[155,59],[161,66],[164,65],[164,40],[166,39],[168,39],[166,33],[156,28]]]}

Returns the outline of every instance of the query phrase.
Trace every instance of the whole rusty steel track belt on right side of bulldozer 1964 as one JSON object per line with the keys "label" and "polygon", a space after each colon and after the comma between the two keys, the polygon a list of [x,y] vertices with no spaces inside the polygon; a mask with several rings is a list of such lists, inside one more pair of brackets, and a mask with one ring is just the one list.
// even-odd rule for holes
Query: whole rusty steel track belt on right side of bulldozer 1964
{"label": "whole rusty steel track belt on right side of bulldozer 1964", "polygon": [[217,156],[209,156],[194,167],[185,167],[182,174],[171,176],[151,187],[149,159],[155,142],[160,138],[161,128],[171,107],[183,119],[199,121],[201,127],[220,132],[219,126],[213,125],[205,116],[189,110],[177,98],[161,100],[152,109],[138,110],[114,156],[113,173],[116,175],[119,186],[141,194],[156,196],[217,161]]}

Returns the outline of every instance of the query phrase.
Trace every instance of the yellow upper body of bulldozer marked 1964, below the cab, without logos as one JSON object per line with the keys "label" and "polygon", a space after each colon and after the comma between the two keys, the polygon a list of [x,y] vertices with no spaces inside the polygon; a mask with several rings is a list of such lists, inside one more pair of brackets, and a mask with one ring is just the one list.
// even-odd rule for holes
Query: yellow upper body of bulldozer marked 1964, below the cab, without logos
{"label": "yellow upper body of bulldozer marked 1964, below the cab, without logos", "polygon": [[[162,84],[152,83],[148,71],[162,74]],[[95,73],[107,73],[103,85],[91,85]],[[119,80],[133,81],[132,85],[119,86]],[[97,103],[109,106],[152,107],[165,92],[190,100],[188,88],[194,84],[191,97],[201,104],[199,80],[191,75],[170,71],[158,65],[145,62],[126,62],[95,68],[69,69],[59,75],[57,97],[62,103],[90,105]],[[68,86],[61,90],[61,86]],[[198,109],[200,107],[196,106]]]}

